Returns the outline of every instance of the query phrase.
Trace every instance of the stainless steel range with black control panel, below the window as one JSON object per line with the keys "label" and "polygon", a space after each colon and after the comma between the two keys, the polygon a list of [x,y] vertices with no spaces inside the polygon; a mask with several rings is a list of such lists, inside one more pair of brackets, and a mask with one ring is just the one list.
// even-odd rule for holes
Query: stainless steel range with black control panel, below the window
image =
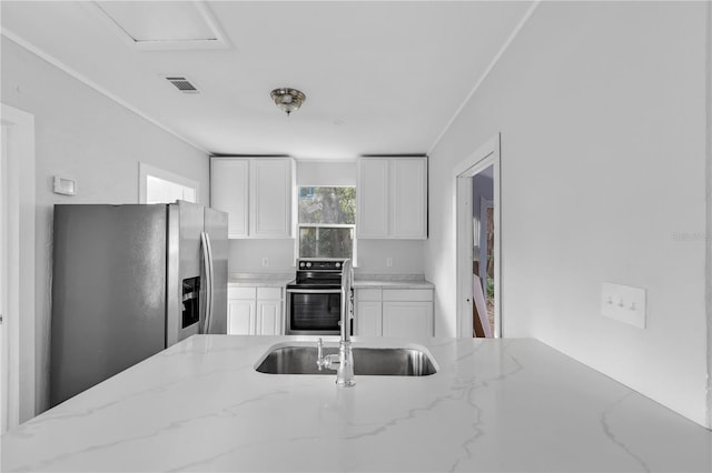
{"label": "stainless steel range with black control panel, below the window", "polygon": [[297,279],[287,284],[287,335],[340,334],[343,265],[343,259],[297,261]]}

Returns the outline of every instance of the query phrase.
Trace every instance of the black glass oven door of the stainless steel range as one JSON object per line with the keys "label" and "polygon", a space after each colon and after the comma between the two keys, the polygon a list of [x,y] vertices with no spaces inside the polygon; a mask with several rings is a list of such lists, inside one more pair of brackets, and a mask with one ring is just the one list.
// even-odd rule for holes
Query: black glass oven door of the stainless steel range
{"label": "black glass oven door of the stainless steel range", "polygon": [[338,335],[340,289],[287,289],[287,335]]}

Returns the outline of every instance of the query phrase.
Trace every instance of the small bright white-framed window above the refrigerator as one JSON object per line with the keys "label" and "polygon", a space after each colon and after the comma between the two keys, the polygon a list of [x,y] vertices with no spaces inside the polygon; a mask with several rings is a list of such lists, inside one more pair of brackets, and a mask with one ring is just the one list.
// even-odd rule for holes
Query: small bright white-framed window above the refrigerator
{"label": "small bright white-framed window above the refrigerator", "polygon": [[198,183],[172,172],[139,163],[139,203],[198,202]]}

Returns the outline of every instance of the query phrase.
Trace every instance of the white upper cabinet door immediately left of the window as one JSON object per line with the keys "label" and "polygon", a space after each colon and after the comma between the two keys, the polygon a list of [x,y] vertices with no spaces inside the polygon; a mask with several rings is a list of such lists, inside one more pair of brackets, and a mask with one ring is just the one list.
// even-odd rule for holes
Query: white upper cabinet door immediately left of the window
{"label": "white upper cabinet door immediately left of the window", "polygon": [[291,159],[254,158],[251,161],[250,234],[291,238]]}

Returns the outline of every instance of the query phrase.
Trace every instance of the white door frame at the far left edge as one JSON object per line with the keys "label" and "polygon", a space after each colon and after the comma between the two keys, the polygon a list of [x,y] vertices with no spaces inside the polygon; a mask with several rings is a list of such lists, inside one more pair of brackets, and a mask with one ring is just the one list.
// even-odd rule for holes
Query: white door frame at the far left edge
{"label": "white door frame at the far left edge", "polygon": [[[7,313],[7,423],[18,425],[36,413],[36,311],[34,311],[34,117],[1,103],[7,127],[7,161],[2,163],[6,251],[3,274]],[[4,160],[3,160],[4,161]]]}

